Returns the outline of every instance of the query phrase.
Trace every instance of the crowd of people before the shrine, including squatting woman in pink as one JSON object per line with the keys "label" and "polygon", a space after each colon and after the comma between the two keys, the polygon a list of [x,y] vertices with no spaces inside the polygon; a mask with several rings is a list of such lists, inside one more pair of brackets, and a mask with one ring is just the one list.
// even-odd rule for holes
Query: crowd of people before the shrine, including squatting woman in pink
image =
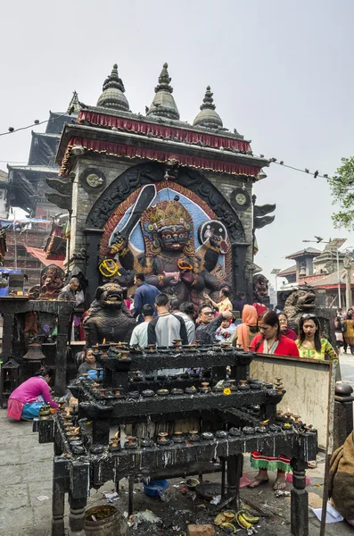
{"label": "crowd of people before the shrine, including squatting woman in pink", "polygon": [[[136,273],[134,301],[130,297],[127,307],[136,318],[130,345],[144,348],[147,345],[170,347],[180,339],[183,345],[229,343],[236,348],[262,354],[305,357],[309,359],[337,359],[335,349],[321,335],[320,323],[315,314],[303,314],[298,332],[288,327],[284,312],[267,309],[259,301],[246,303],[244,295],[232,300],[231,289],[219,292],[218,302],[204,294],[204,300],[196,309],[192,302],[179,304],[174,297],[161,293],[144,281],[144,273]],[[70,281],[72,287],[76,281]],[[66,292],[75,292],[70,285]],[[342,335],[344,348],[354,352],[353,311],[346,316],[337,311],[335,331]],[[341,337],[337,337],[341,342]],[[78,359],[78,374],[87,373],[95,378],[95,355],[86,348]],[[8,416],[15,419],[33,418],[43,402],[52,408],[58,405],[51,398],[48,383],[53,371],[42,368],[34,378],[25,381],[12,392],[9,399]],[[284,490],[285,474],[290,471],[290,460],[286,456],[264,456],[261,452],[251,453],[251,466],[258,470],[250,487],[255,488],[269,481],[268,470],[276,471],[274,490]]]}

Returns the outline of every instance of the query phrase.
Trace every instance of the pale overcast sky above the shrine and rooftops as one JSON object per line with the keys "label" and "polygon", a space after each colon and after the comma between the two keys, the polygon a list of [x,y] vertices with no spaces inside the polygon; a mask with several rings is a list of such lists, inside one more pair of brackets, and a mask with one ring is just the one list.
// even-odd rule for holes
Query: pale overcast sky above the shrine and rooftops
{"label": "pale overcast sky above the shrine and rooftops", "polygon": [[[193,122],[210,84],[224,126],[256,154],[331,175],[354,155],[353,23],[353,0],[4,2],[0,132],[65,111],[74,89],[95,105],[113,63],[131,110],[144,113],[168,62],[182,120]],[[1,169],[27,162],[30,138],[0,137]],[[354,246],[333,229],[324,179],[265,171],[254,193],[259,205],[276,203],[276,221],[257,233],[266,274],[314,235]]]}

